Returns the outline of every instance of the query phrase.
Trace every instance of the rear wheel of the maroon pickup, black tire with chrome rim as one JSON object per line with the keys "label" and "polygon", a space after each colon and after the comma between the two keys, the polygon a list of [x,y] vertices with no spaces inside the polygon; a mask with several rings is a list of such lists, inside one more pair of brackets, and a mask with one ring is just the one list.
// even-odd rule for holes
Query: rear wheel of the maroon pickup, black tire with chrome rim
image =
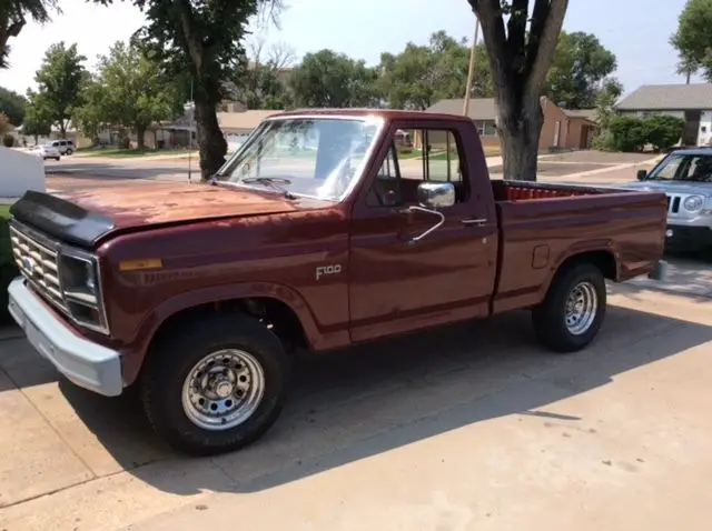
{"label": "rear wheel of the maroon pickup, black tire with chrome rim", "polygon": [[532,312],[538,341],[554,352],[576,352],[591,343],[605,317],[606,290],[601,270],[580,263],[561,270],[544,301]]}

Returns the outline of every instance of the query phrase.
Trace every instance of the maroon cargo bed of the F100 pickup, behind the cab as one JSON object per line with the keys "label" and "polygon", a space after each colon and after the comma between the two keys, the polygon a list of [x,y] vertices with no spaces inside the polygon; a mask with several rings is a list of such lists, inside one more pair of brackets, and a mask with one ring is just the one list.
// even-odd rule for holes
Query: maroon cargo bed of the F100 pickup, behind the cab
{"label": "maroon cargo bed of the F100 pickup, behind the cab", "polygon": [[[526,181],[492,181],[500,227],[493,311],[536,304],[567,257],[595,253],[606,278],[655,268],[664,247],[664,193]],[[595,250],[595,251],[594,251]]]}

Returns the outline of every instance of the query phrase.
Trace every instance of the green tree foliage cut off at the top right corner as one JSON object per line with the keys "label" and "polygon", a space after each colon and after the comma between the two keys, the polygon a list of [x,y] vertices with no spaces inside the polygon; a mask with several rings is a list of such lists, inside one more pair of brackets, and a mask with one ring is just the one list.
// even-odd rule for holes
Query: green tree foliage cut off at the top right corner
{"label": "green tree foliage cut off at the top right corner", "polygon": [[701,68],[712,81],[712,0],[688,0],[670,43],[680,54],[680,73],[690,79]]}

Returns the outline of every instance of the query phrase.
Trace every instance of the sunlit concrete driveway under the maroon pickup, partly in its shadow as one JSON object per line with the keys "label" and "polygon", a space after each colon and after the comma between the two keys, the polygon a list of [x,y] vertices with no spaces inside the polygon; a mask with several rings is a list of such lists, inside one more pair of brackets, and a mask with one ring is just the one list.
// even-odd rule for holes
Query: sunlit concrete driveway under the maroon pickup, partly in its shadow
{"label": "sunlit concrete driveway under the maroon pickup, partly in its shadow", "polygon": [[0,529],[706,531],[712,274],[693,266],[669,292],[615,287],[570,357],[534,343],[527,312],[303,357],[275,429],[214,459],[6,339]]}

